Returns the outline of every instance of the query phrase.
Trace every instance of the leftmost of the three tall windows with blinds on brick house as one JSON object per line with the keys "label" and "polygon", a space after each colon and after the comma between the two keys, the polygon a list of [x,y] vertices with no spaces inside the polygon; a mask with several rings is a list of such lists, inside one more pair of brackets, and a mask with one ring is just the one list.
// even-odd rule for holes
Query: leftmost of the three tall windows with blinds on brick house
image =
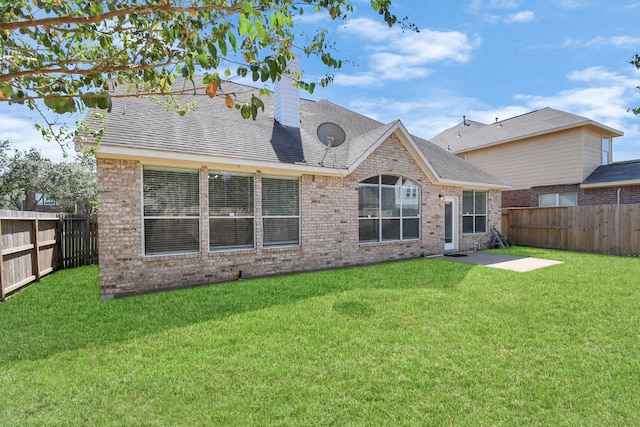
{"label": "leftmost of the three tall windows with blinds on brick house", "polygon": [[145,167],[142,182],[145,255],[197,252],[198,171]]}

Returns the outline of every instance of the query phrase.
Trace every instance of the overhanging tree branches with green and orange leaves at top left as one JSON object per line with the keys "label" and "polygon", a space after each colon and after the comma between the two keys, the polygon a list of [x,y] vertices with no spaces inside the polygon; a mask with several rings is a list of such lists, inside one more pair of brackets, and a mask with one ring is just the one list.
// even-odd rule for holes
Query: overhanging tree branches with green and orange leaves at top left
{"label": "overhanging tree branches with green and orange leaves at top left", "polygon": [[[391,0],[370,0],[389,26],[415,26],[391,13]],[[176,75],[202,74],[210,97],[254,117],[258,97],[234,100],[219,91],[221,74],[275,82],[292,49],[318,56],[327,75],[297,84],[310,92],[331,82],[342,62],[328,32],[318,30],[298,46],[293,18],[313,11],[331,19],[353,12],[351,0],[0,0],[0,101],[40,112],[43,135],[56,136],[44,106],[57,113],[108,110],[113,96],[178,95]],[[110,94],[115,86],[121,94]],[[171,104],[180,114],[187,107]]]}

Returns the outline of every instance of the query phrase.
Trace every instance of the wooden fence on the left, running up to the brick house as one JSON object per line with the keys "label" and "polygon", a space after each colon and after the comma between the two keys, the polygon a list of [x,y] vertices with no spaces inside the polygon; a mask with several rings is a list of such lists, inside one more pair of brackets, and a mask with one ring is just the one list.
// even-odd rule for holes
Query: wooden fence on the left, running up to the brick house
{"label": "wooden fence on the left, running up to the brick house", "polygon": [[0,211],[0,254],[3,301],[55,269],[97,263],[97,223],[88,217]]}

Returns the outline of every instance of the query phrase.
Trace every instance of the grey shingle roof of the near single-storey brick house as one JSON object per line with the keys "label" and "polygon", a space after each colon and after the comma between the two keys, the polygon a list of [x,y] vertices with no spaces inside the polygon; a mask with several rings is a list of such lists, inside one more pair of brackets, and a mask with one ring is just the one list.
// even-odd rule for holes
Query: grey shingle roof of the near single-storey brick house
{"label": "grey shingle roof of the near single-storey brick house", "polygon": [[[186,83],[178,79],[176,84]],[[107,127],[98,157],[180,158],[346,175],[390,133],[400,132],[436,181],[508,187],[499,178],[413,137],[400,121],[384,124],[326,100],[300,99],[300,127],[287,127],[274,119],[274,96],[262,96],[265,110],[259,111],[256,120],[245,120],[237,109],[226,108],[220,97],[209,99],[204,89],[181,97],[182,104],[197,102],[184,117],[149,98],[113,98],[112,111],[105,113]],[[240,102],[259,95],[256,88],[231,82],[222,82],[220,90],[233,93]],[[87,121],[94,128],[100,126],[93,114]],[[344,130],[342,145],[328,147],[318,138],[318,126],[327,122]]]}

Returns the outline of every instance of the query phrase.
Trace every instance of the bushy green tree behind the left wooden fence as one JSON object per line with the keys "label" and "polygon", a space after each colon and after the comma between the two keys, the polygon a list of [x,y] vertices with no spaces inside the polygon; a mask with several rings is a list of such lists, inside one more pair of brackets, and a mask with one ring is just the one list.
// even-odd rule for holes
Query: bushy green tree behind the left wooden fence
{"label": "bushy green tree behind the left wooden fence", "polygon": [[0,143],[0,207],[35,210],[55,200],[63,212],[93,213],[97,190],[95,161],[53,163],[35,148],[14,150]]}

